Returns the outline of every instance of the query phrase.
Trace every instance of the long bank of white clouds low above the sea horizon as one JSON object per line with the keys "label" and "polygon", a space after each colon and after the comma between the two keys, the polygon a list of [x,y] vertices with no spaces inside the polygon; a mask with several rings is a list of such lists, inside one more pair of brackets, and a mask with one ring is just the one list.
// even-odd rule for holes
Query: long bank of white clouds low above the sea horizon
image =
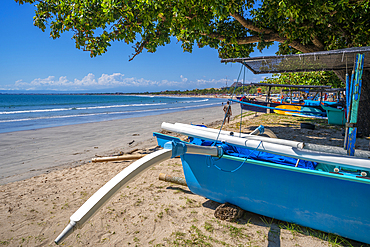
{"label": "long bank of white clouds low above the sea horizon", "polygon": [[166,89],[192,89],[207,87],[223,87],[225,79],[198,79],[191,81],[180,75],[178,81],[170,80],[147,80],[144,78],[125,77],[121,73],[111,75],[102,74],[99,78],[89,73],[82,79],[68,80],[66,76],[55,78],[36,78],[31,82],[23,80],[16,81],[13,85],[7,85],[5,90],[55,90],[55,91],[84,91],[84,90],[109,90],[109,89],[130,89],[131,91],[160,91]]}

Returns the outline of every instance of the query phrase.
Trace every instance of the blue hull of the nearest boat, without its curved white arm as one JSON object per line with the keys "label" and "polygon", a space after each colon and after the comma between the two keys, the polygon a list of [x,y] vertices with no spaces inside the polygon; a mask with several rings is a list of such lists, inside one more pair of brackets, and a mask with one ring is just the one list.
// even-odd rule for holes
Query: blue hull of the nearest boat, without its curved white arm
{"label": "blue hull of the nearest boat, without its curved white arm", "polygon": [[[186,131],[181,128],[177,132]],[[214,144],[207,135],[187,133],[192,137],[191,143]],[[158,133],[155,136],[163,147],[169,140],[182,142]],[[273,154],[277,152],[272,150],[262,152],[267,142],[259,144],[259,148],[251,149],[220,142],[222,157],[184,153],[181,160],[189,189],[219,203],[228,202],[274,219],[370,243],[368,159],[351,160],[359,166],[354,162],[328,164],[317,159],[316,153],[312,153],[316,156],[313,159],[302,153],[301,157],[288,157],[286,151],[281,152],[284,156]],[[299,154],[304,149],[293,150]],[[341,155],[333,157],[340,159]]]}

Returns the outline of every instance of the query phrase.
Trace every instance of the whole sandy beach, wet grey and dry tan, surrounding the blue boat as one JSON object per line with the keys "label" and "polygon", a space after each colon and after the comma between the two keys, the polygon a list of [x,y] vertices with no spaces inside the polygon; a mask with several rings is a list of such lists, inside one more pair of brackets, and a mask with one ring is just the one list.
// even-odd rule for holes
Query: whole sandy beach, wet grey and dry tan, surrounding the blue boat
{"label": "whole sandy beach, wet grey and dry tan, surrounding the blue boat", "polygon": [[[236,106],[234,115],[237,113]],[[70,125],[0,134],[0,245],[55,246],[69,217],[101,186],[132,161],[91,163],[92,158],[156,148],[153,132],[162,122],[218,127],[222,106],[143,118]],[[279,137],[340,146],[341,129],[300,129],[292,117],[269,124],[248,115],[243,131],[259,124]],[[226,127],[238,129],[236,119]],[[288,138],[290,137],[290,138]],[[367,150],[369,141],[357,147]],[[235,223],[214,217],[219,203],[186,186],[158,180],[159,173],[183,177],[178,158],[144,172],[123,188],[63,246],[360,246],[331,234],[245,212]]]}

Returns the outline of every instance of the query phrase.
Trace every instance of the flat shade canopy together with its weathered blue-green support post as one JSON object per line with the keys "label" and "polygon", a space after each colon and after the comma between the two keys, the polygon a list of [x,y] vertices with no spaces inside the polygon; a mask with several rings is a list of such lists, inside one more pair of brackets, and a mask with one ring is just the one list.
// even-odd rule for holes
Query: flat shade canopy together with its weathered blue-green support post
{"label": "flat shade canopy together with its weathered blue-green support post", "polygon": [[[365,69],[370,69],[369,55],[370,46],[365,46],[283,56],[228,58],[221,59],[221,62],[239,62],[254,74],[327,70],[346,71],[346,97],[348,96],[348,98],[346,101],[347,122],[344,149],[347,150],[348,155],[353,156],[356,144],[362,73]],[[348,75],[348,64],[353,64],[351,79]]]}

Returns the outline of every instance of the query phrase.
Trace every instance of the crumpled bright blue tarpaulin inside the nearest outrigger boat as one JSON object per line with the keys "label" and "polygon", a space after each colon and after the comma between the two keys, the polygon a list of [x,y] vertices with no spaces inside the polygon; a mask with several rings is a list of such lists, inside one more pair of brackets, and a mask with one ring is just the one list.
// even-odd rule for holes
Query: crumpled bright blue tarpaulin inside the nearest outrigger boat
{"label": "crumpled bright blue tarpaulin inside the nearest outrigger boat", "polygon": [[[195,144],[195,145],[200,145],[200,146],[213,145],[213,142],[211,141],[205,141],[205,140],[201,140],[198,138],[190,138],[190,143]],[[222,149],[225,154],[235,156],[235,157],[248,158],[248,159],[259,160],[259,161],[264,161],[264,162],[271,162],[271,163],[280,164],[280,165],[287,165],[287,166],[296,166],[296,163],[297,163],[297,159],[289,158],[289,157],[285,157],[281,155],[275,155],[275,154],[255,151],[255,150],[251,150],[247,148],[231,146],[231,145],[222,144],[219,142],[217,143],[217,145],[222,146]],[[316,166],[317,166],[316,162],[300,160],[297,167],[305,168],[309,170],[315,170]]]}

